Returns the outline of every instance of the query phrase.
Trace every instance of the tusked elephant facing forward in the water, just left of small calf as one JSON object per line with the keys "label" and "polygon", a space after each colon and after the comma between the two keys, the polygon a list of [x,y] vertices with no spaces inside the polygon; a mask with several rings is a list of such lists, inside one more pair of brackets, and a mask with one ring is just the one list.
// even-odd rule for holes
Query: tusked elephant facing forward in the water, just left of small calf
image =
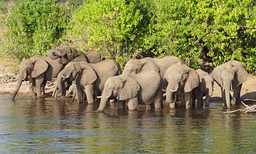
{"label": "tusked elephant facing forward in the water, just left of small calf", "polygon": [[186,104],[186,109],[191,108],[193,95],[200,82],[200,78],[196,70],[176,63],[171,65],[164,75],[164,79],[168,82],[166,87],[166,103],[169,103],[171,109],[175,108],[176,97],[180,96],[182,102]]}

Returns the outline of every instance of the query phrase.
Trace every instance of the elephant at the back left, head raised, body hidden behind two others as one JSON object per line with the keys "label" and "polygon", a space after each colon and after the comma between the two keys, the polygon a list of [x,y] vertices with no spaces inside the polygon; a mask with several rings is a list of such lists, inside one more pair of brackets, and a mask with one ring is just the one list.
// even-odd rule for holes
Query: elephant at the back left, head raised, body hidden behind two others
{"label": "elephant at the back left, head raised, body hidden behind two others", "polygon": [[59,49],[49,50],[48,57],[55,60],[56,58],[63,58],[62,63],[67,64],[68,62],[89,62],[97,63],[102,61],[102,55],[95,51],[82,53],[75,48],[66,46]]}

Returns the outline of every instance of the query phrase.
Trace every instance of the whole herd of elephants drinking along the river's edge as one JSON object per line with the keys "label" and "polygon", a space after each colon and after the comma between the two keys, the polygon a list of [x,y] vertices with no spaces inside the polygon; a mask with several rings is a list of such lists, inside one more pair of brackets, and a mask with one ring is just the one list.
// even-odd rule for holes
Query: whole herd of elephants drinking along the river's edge
{"label": "whole herd of elephants drinking along the river's edge", "polygon": [[52,94],[55,99],[66,99],[72,94],[72,101],[76,98],[78,102],[87,100],[92,104],[100,98],[97,111],[103,111],[107,101],[114,100],[117,109],[128,106],[134,110],[139,104],[146,109],[161,109],[164,96],[171,109],[178,100],[186,109],[209,106],[215,81],[220,86],[223,104],[230,109],[231,104],[240,103],[247,72],[240,62],[230,60],[208,74],[201,69],[193,70],[171,55],[129,60],[122,71],[115,60],[102,60],[100,53],[82,53],[67,46],[50,50],[47,57],[23,60],[12,99],[24,80],[29,81],[30,94],[42,97],[46,82],[53,78],[57,78]]}

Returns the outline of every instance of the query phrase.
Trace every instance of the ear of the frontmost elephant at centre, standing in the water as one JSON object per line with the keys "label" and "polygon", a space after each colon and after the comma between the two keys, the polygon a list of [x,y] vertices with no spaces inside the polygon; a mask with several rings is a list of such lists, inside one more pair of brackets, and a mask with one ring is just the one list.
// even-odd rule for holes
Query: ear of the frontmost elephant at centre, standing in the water
{"label": "ear of the frontmost elephant at centre, standing in the water", "polygon": [[117,99],[120,101],[136,97],[139,92],[139,84],[132,78],[124,80],[124,86],[119,90]]}

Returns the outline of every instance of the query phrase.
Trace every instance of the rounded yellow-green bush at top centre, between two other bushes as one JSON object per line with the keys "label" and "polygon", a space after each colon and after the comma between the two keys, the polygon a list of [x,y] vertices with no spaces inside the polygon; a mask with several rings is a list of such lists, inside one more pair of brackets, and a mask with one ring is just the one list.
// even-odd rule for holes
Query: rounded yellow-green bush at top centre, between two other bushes
{"label": "rounded yellow-green bush at top centre, between two other bushes", "polygon": [[73,13],[68,38],[82,40],[76,47],[100,50],[115,57],[122,67],[130,57],[144,50],[144,38],[151,19],[144,1],[88,0]]}

